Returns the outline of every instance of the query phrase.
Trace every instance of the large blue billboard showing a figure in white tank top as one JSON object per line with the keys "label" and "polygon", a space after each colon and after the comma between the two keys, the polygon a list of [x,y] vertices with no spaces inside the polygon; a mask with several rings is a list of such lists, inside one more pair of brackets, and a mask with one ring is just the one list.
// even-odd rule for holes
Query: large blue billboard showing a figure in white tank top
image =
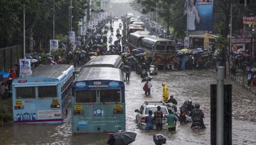
{"label": "large blue billboard showing a figure in white tank top", "polygon": [[184,16],[188,14],[187,26],[189,32],[198,30],[212,31],[213,30],[213,0],[188,0],[184,4]]}

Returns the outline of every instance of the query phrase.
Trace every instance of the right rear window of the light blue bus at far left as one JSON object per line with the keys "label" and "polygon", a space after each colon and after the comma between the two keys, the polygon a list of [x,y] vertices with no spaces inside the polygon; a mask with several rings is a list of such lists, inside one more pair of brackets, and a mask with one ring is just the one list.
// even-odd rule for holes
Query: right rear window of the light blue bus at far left
{"label": "right rear window of the light blue bus at far left", "polygon": [[38,87],[38,98],[56,98],[57,97],[57,86],[39,86]]}

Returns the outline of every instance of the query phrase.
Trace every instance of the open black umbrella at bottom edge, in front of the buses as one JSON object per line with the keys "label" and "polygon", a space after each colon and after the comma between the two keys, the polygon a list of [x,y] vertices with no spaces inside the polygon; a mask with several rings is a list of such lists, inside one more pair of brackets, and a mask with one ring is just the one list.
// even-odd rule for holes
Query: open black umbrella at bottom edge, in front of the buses
{"label": "open black umbrella at bottom edge, in front of the buses", "polygon": [[119,130],[108,138],[108,145],[128,145],[135,141],[136,133],[129,130]]}

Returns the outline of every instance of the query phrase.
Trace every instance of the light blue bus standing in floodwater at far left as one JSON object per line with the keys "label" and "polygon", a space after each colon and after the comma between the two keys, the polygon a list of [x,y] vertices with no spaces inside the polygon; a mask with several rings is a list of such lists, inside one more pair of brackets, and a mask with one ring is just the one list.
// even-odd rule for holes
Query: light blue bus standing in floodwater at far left
{"label": "light blue bus standing in floodwater at far left", "polygon": [[14,123],[61,123],[71,102],[74,66],[39,66],[30,77],[13,80]]}

